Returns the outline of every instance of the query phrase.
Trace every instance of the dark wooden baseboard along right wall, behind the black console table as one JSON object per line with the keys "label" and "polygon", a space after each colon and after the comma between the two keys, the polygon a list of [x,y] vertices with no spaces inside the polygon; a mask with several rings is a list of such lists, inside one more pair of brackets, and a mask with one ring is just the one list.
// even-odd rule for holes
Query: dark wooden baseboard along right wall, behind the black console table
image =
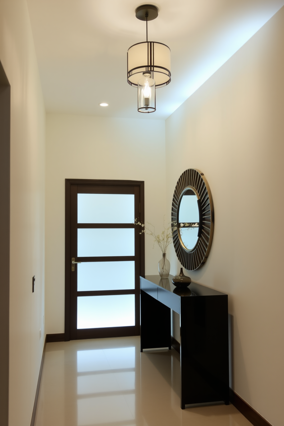
{"label": "dark wooden baseboard along right wall, behind the black console table", "polygon": [[[172,347],[180,354],[181,345],[172,337]],[[229,389],[229,400],[233,406],[241,413],[253,426],[272,426],[267,420],[264,419],[258,412],[256,412],[246,401],[239,397],[231,388]]]}

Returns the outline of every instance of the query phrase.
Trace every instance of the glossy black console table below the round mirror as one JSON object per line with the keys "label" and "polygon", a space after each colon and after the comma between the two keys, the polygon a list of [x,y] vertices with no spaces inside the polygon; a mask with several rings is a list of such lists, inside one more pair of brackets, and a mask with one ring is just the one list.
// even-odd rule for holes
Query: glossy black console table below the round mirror
{"label": "glossy black console table below the round mirror", "polygon": [[171,348],[171,309],[180,314],[181,408],[229,404],[228,296],[192,282],[178,290],[159,275],[140,277],[141,352]]}

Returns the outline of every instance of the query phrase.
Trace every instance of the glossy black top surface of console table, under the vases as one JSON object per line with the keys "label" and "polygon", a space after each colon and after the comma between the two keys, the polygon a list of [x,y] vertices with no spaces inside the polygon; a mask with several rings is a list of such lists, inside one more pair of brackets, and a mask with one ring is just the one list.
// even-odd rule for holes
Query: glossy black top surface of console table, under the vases
{"label": "glossy black top surface of console table, under the vases", "polygon": [[[191,282],[186,288],[179,288],[172,284],[173,275],[169,278],[161,279],[160,275],[145,275],[144,279],[158,285],[165,290],[168,290],[179,297],[192,297],[192,296],[223,296],[224,293],[214,290],[213,288],[205,287],[204,285]],[[143,278],[143,277],[141,277]]]}

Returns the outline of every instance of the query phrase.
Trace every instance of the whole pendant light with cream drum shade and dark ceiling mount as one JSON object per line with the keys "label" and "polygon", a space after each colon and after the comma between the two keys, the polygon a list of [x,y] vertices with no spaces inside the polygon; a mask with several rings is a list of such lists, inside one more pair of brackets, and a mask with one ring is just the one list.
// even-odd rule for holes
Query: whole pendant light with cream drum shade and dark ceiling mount
{"label": "whole pendant light with cream drum shade and dark ceiling mount", "polygon": [[138,111],[156,111],[156,87],[171,81],[171,51],[168,46],[148,41],[148,21],[158,16],[153,5],[139,6],[137,19],[146,21],[146,41],[130,46],[127,52],[127,82],[138,88]]}

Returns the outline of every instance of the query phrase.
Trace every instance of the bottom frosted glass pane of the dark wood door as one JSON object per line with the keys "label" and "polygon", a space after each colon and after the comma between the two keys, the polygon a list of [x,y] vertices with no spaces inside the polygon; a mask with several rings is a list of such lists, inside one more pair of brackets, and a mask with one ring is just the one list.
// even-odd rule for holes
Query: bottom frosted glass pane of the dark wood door
{"label": "bottom frosted glass pane of the dark wood door", "polygon": [[79,296],[77,328],[126,327],[135,325],[134,294]]}

